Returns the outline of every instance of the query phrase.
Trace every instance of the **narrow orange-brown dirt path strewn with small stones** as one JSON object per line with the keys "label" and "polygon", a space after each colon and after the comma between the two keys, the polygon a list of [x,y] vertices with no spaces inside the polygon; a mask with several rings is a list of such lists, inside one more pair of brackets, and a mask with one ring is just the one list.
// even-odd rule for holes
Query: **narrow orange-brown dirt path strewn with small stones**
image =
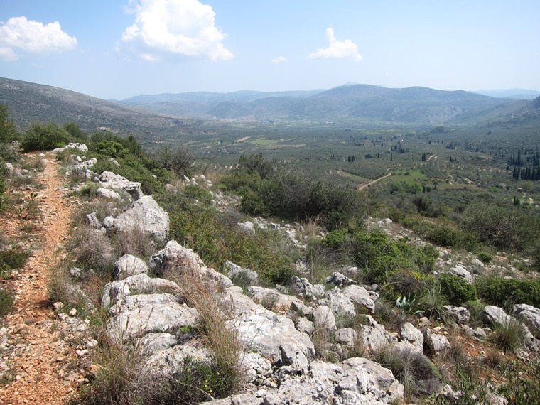
{"label": "narrow orange-brown dirt path strewn with small stones", "polygon": [[[9,281],[16,291],[15,308],[0,325],[0,340],[6,344],[0,365],[4,370],[7,367],[4,376],[11,380],[0,386],[0,404],[5,405],[66,404],[81,378],[74,372],[76,347],[68,342],[67,325],[57,319],[47,301],[49,269],[63,254],[72,206],[63,196],[58,164],[50,154],[45,158],[45,171],[38,175],[45,189],[36,198],[43,212],[38,230],[41,249]],[[8,229],[6,234],[16,229],[13,224],[2,227]]]}

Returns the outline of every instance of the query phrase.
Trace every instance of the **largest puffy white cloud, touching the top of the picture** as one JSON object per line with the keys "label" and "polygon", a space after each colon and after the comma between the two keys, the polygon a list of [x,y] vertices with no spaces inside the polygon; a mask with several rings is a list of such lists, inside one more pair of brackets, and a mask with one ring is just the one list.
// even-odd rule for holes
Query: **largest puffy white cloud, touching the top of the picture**
{"label": "largest puffy white cloud, touching the top of the picture", "polygon": [[222,44],[225,34],[215,26],[212,6],[197,0],[140,0],[134,7],[135,23],[122,41],[144,60],[170,55],[233,58]]}

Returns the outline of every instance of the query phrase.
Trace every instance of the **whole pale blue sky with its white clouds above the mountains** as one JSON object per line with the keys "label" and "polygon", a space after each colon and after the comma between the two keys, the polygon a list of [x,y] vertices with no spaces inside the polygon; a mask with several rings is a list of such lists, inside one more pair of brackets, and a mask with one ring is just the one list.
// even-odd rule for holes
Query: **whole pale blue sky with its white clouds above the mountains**
{"label": "whole pale blue sky with its white clouds above the mountains", "polygon": [[540,90],[538,0],[1,0],[0,77],[104,99]]}

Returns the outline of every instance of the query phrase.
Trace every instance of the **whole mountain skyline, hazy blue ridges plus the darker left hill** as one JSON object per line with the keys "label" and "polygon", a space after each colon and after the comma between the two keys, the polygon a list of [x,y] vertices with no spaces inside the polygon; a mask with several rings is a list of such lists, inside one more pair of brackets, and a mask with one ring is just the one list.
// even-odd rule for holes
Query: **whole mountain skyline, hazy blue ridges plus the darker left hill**
{"label": "whole mountain skyline, hazy blue ridges plus the darker left hill", "polygon": [[330,90],[190,92],[106,101],[58,87],[0,78],[0,103],[9,107],[19,126],[32,121],[75,121],[87,131],[104,127],[147,139],[163,134],[204,136],[205,125],[214,125],[216,119],[298,122],[351,119],[435,125],[505,121],[515,124],[516,120],[530,121],[531,117],[540,121],[540,97],[528,101],[426,87],[392,89],[357,84]]}

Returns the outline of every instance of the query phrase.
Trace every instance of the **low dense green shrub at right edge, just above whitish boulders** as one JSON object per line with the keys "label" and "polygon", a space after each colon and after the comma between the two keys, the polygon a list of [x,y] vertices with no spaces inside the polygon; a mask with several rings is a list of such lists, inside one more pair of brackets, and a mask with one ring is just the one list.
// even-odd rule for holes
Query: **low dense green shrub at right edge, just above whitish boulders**
{"label": "low dense green shrub at right edge, just above whitish boulders", "polygon": [[490,305],[507,308],[514,303],[526,303],[540,308],[540,279],[508,280],[495,276],[478,277],[475,279],[475,286],[478,296]]}

